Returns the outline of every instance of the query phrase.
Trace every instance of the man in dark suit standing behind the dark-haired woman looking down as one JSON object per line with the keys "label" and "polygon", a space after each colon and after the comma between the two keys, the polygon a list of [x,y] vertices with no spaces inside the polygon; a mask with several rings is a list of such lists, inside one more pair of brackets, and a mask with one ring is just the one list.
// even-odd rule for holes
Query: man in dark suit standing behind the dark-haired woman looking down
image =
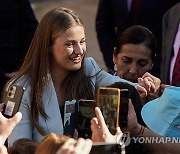
{"label": "man in dark suit standing behind the dark-haired woman looking down", "polygon": [[151,74],[160,76],[162,17],[179,0],[100,0],[96,31],[106,66],[113,69],[116,37],[132,25],[147,27],[157,38],[158,52]]}

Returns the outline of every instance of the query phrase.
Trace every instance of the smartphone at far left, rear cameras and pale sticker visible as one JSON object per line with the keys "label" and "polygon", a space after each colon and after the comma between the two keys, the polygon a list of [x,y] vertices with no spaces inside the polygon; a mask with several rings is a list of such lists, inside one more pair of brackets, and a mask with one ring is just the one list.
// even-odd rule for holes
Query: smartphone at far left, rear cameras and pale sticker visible
{"label": "smartphone at far left, rear cameras and pale sticker visible", "polygon": [[13,117],[19,110],[21,99],[25,88],[23,86],[11,85],[6,92],[2,114],[6,118]]}

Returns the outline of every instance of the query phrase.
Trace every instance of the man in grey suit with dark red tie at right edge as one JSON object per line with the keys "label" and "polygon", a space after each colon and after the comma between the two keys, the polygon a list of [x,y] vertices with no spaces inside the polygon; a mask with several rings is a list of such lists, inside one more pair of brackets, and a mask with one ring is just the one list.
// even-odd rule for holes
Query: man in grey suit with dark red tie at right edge
{"label": "man in grey suit with dark red tie at right edge", "polygon": [[180,86],[180,3],[165,13],[162,29],[161,80]]}

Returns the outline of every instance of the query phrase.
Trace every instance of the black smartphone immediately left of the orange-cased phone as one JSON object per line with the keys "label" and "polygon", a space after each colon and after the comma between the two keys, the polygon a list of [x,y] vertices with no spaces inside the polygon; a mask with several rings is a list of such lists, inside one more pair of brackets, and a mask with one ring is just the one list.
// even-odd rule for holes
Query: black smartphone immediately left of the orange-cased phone
{"label": "black smartphone immediately left of the orange-cased phone", "polygon": [[80,99],[78,104],[78,136],[91,138],[91,119],[95,117],[96,101]]}

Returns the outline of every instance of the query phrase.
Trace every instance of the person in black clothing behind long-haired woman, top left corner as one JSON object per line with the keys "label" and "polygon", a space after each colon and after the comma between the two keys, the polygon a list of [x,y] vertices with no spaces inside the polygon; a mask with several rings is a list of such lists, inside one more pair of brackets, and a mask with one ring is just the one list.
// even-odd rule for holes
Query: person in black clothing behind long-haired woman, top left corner
{"label": "person in black clothing behind long-haired woman, top left corner", "polygon": [[0,95],[23,62],[38,25],[28,0],[1,0]]}

